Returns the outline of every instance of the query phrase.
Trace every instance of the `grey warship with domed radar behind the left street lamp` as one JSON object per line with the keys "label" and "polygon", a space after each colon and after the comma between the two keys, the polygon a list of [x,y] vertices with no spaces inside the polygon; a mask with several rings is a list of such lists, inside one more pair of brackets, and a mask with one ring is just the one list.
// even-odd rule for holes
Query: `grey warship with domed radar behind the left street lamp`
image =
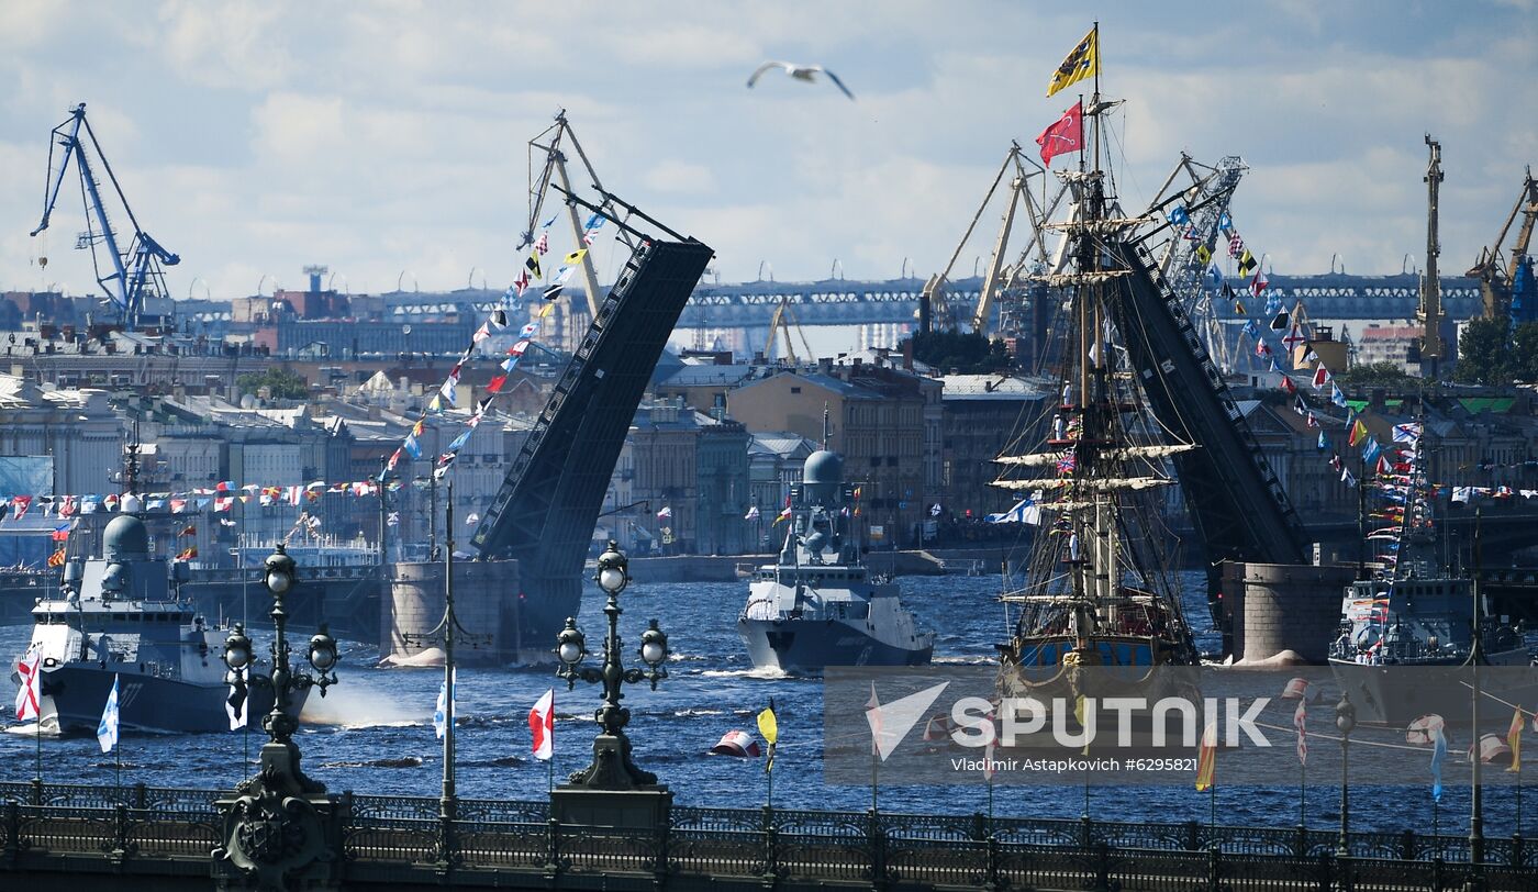
{"label": "grey warship with domed radar behind the left street lamp", "polygon": [[[225,664],[228,629],[208,624],[172,592],[168,561],[151,557],[145,521],[120,515],[102,534],[102,557],[65,566],[65,595],[38,600],[32,641],[23,658],[42,657],[45,727],[95,734],[118,686],[125,729],[226,731]],[[252,724],[272,709],[272,689],[248,687]],[[308,691],[289,695],[292,714]],[[55,718],[57,717],[57,718]]]}

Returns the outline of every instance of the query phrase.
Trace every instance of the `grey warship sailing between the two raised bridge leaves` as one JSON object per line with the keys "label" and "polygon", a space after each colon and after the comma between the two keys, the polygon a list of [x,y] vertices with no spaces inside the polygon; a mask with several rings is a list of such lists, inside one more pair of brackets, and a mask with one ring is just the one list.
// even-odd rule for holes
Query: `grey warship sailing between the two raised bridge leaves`
{"label": "grey warship sailing between the two raised bridge leaves", "polygon": [[918,629],[894,583],[874,581],[860,563],[843,466],[826,449],[807,455],[791,488],[784,546],[752,575],[737,632],[755,669],[818,675],[827,666],[929,664],[935,634]]}

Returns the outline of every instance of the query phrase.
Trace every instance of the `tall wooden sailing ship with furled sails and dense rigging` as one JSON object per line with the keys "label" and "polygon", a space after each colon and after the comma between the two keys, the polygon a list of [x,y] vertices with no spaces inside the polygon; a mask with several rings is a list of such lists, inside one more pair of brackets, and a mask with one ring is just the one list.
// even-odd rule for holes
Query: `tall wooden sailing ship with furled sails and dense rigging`
{"label": "tall wooden sailing ship with furled sails and dense rigging", "polygon": [[1061,266],[1035,275],[1066,306],[1061,397],[1029,428],[1034,448],[997,458],[995,484],[1040,512],[1023,583],[1006,581],[1001,595],[1018,611],[998,644],[1004,697],[1152,700],[1166,694],[1154,691],[1166,684],[1160,667],[1198,661],[1155,503],[1175,483],[1169,458],[1195,446],[1152,423],[1120,331],[1135,318],[1126,306],[1135,271],[1123,248],[1149,218],[1121,211],[1100,168],[1100,115],[1112,105],[1097,85],[1083,109],[1090,145],[1078,169],[1057,172],[1070,201],[1067,218],[1052,225],[1063,234]]}

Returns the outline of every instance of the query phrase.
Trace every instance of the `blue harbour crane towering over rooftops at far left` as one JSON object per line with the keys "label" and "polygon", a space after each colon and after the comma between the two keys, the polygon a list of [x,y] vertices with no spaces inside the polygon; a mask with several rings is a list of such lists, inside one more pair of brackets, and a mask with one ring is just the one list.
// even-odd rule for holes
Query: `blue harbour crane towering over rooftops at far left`
{"label": "blue harbour crane towering over rooftops at far left", "polygon": [[[86,143],[80,140],[82,128],[85,128],[86,135],[91,138],[91,148],[95,149],[95,160],[86,151]],[[58,169],[54,171],[54,154],[58,148],[63,148],[63,152]],[[118,308],[123,326],[134,329],[138,326],[138,315],[145,308],[145,298],[168,297],[161,265],[175,266],[181,258],[166,251],[138,226],[138,220],[134,218],[134,209],[128,206],[128,197],[123,195],[123,188],[118,186],[117,177],[112,174],[112,166],[108,165],[106,155],[102,154],[102,143],[97,141],[91,123],[86,121],[86,103],[75,106],[69,114],[69,120],[54,128],[52,141],[48,146],[48,191],[43,195],[43,221],[37,225],[37,229],[32,229],[32,235],[48,229],[48,218],[54,212],[54,203],[58,201],[58,191],[65,183],[65,174],[69,171],[69,158],[75,158],[75,169],[80,174],[80,194],[86,211],[86,231],[75,240],[75,249],[91,249],[91,263],[95,266],[97,283]],[[129,241],[128,251],[118,246],[112,221],[108,218],[106,203],[102,198],[102,181],[92,169],[92,165],[97,163],[106,172],[108,181],[112,183],[112,191],[117,192],[117,198],[123,205],[128,221],[134,226],[134,238]],[[103,251],[97,251],[97,246],[102,246]],[[103,261],[103,252],[106,254],[106,261]]]}

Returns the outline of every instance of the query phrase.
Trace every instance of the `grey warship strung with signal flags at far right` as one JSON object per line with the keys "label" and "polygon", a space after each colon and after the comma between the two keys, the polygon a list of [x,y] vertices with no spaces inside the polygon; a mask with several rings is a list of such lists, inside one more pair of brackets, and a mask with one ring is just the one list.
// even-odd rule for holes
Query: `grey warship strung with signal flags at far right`
{"label": "grey warship strung with signal flags at far right", "polygon": [[[1352,694],[1358,717],[1378,724],[1463,715],[1467,678],[1453,669],[1475,663],[1518,669],[1533,661],[1523,637],[1490,615],[1475,578],[1455,575],[1438,560],[1436,498],[1423,432],[1424,421],[1397,426],[1393,460],[1386,458],[1380,474],[1364,481],[1378,503],[1364,518],[1373,526],[1366,540],[1380,554],[1364,564],[1364,578],[1346,587],[1340,637],[1330,643],[1337,681]],[[1447,672],[1400,672],[1409,667]],[[1538,698],[1532,672],[1493,672],[1484,686],[1503,701]]]}

